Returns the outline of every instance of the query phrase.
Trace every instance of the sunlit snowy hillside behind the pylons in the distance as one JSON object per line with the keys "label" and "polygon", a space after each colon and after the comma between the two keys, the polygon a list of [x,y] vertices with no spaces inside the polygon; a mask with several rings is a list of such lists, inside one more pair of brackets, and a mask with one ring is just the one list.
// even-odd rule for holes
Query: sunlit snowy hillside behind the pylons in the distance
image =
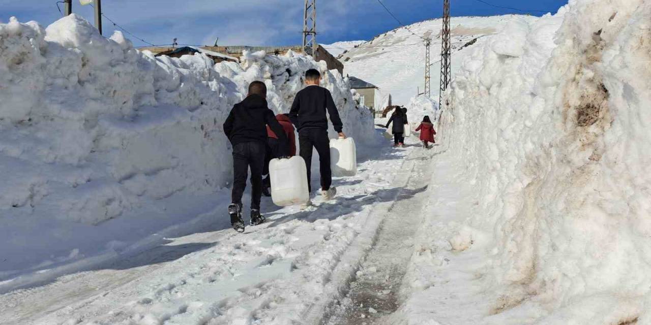
{"label": "sunlit snowy hillside behind the pylons in the distance", "polygon": [[[484,36],[500,31],[506,22],[519,17],[526,21],[531,16],[453,17],[452,27],[452,74],[458,72],[464,58],[485,42]],[[432,97],[439,98],[439,70],[437,62],[441,54],[441,19],[422,21],[408,26],[418,35],[432,37]],[[477,39],[475,44],[469,44]],[[349,49],[340,58],[344,62],[344,74],[353,75],[380,88],[377,101],[391,94],[394,105],[407,105],[422,92],[425,73],[425,45],[422,40],[405,28],[385,32],[356,49]]]}

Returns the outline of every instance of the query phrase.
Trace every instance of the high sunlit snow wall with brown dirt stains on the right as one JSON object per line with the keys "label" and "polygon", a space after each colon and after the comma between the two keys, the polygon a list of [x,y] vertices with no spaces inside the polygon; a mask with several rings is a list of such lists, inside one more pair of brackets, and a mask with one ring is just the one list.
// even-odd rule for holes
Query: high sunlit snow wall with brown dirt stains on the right
{"label": "high sunlit snow wall with brown dirt stains on the right", "polygon": [[440,129],[479,200],[451,242],[488,241],[493,313],[651,324],[650,62],[648,0],[570,0],[464,60]]}

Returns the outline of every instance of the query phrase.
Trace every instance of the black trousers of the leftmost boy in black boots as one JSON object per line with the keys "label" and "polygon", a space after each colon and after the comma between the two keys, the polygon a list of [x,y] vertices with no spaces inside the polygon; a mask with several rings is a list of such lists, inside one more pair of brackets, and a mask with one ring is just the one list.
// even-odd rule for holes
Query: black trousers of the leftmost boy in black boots
{"label": "black trousers of the leftmost boy in black boots", "polygon": [[233,190],[232,203],[242,205],[242,195],[251,168],[251,209],[260,209],[262,196],[262,169],[265,155],[264,142],[243,142],[233,146]]}

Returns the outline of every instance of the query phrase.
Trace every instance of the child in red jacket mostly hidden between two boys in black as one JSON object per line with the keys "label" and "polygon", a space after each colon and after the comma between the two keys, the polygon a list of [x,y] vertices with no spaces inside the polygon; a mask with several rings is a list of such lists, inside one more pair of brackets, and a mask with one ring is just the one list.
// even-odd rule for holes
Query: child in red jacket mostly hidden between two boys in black
{"label": "child in red jacket mostly hidden between two boys in black", "polygon": [[[289,114],[278,114],[276,115],[276,120],[278,123],[281,123],[283,126],[284,134],[287,137],[288,144],[286,147],[289,148],[289,156],[294,157],[296,155],[296,135],[294,135],[294,125],[289,118]],[[281,152],[281,145],[279,144],[280,140],[278,136],[271,131],[271,127],[267,125],[267,152],[266,157],[264,158],[264,170],[262,175],[265,175],[262,179],[262,195],[271,196],[271,177],[269,175],[269,163],[271,159],[282,158],[283,152]]]}

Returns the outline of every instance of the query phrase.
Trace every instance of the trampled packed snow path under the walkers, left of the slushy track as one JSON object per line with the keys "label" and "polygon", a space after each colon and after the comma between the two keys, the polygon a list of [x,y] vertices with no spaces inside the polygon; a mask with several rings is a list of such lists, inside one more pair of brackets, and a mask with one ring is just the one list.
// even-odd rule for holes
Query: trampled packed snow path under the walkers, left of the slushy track
{"label": "trampled packed snow path under the walkers, left of the slushy track", "polygon": [[[432,151],[417,146],[361,153],[355,177],[335,179],[335,200],[273,208],[269,221],[234,233],[222,211],[212,229],[111,265],[0,296],[0,324],[307,324],[322,322],[396,200],[422,192]],[[374,151],[374,152],[373,152]],[[418,167],[417,167],[418,166]],[[316,175],[318,177],[318,174]]]}

